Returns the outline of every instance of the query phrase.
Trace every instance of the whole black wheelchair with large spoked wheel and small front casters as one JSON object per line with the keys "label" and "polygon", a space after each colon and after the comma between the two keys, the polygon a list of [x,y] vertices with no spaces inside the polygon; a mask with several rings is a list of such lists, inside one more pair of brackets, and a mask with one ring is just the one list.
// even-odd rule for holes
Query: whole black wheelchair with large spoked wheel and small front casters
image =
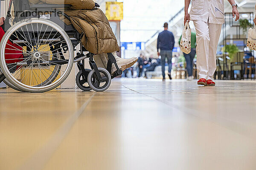
{"label": "whole black wheelchair with large spoked wheel and small front casters", "polygon": [[[22,92],[50,91],[67,79],[74,62],[79,68],[76,84],[82,91],[105,91],[111,79],[122,75],[112,53],[108,53],[107,69],[98,68],[93,60],[95,54],[81,43],[84,33],[79,34],[72,24],[60,19],[61,15],[70,21],[63,12],[70,5],[30,5],[28,0],[12,3],[14,13],[21,12],[15,13],[14,19],[7,16],[2,26],[5,34],[0,42],[0,82]],[[91,69],[84,68],[86,58]],[[116,72],[111,77],[113,64]]]}

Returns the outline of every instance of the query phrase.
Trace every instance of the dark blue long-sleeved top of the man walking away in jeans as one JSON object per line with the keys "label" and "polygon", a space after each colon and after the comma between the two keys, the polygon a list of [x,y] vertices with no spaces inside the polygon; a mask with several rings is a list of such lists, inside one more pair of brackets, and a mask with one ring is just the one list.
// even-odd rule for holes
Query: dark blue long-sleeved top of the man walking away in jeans
{"label": "dark blue long-sleeved top of the man walking away in jeans", "polygon": [[157,38],[157,51],[159,50],[172,50],[174,47],[174,36],[170,31],[162,31]]}

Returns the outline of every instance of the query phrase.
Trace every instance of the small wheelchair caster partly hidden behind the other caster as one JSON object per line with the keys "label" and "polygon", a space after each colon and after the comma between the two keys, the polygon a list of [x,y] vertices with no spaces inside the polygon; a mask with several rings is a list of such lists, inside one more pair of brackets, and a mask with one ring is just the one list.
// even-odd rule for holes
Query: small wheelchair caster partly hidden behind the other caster
{"label": "small wheelchair caster partly hidden behind the other caster", "polygon": [[92,88],[90,88],[89,84],[87,83],[87,77],[90,73],[90,69],[85,69],[86,74],[84,75],[82,71],[79,71],[76,75],[76,85],[82,90],[82,91],[91,91]]}

